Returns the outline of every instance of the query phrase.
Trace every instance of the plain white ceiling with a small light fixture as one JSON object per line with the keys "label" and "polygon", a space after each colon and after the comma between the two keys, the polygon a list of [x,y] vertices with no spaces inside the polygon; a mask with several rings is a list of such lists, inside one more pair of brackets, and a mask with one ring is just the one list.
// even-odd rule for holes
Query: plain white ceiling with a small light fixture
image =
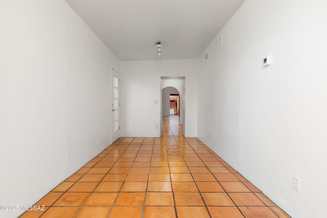
{"label": "plain white ceiling with a small light fixture", "polygon": [[120,60],[196,59],[245,0],[65,0]]}

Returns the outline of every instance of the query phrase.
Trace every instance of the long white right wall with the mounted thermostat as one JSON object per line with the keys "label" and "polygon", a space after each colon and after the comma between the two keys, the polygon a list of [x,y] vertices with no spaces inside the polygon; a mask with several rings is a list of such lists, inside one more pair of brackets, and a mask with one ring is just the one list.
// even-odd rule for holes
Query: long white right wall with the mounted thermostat
{"label": "long white right wall with the mounted thermostat", "polygon": [[326,8],[247,0],[200,56],[199,139],[292,217],[327,214]]}

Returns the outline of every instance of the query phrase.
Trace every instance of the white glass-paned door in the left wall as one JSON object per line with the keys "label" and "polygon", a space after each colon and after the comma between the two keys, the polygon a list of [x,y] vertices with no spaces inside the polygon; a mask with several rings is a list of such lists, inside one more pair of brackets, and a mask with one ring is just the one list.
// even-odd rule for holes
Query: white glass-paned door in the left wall
{"label": "white glass-paned door in the left wall", "polygon": [[[112,98],[111,98],[111,113],[112,113],[112,142],[119,138],[119,75],[118,72],[111,68],[112,74]],[[111,142],[111,143],[112,143]]]}

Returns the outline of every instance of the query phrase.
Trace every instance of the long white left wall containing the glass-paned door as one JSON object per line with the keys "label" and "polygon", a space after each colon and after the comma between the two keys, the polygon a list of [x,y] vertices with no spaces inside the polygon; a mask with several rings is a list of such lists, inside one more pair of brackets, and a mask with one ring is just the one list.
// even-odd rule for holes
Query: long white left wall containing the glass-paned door
{"label": "long white left wall containing the glass-paned door", "polygon": [[33,205],[108,146],[119,62],[63,0],[1,1],[0,31],[0,205]]}

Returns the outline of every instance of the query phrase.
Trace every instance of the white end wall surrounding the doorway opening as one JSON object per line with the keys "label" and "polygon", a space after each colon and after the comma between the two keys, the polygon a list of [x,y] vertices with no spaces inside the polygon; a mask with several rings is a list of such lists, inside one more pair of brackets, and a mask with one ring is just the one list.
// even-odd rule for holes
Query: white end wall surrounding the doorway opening
{"label": "white end wall surrounding the doorway opening", "polygon": [[160,77],[185,77],[185,136],[196,136],[198,60],[122,61],[121,136],[159,137]]}

